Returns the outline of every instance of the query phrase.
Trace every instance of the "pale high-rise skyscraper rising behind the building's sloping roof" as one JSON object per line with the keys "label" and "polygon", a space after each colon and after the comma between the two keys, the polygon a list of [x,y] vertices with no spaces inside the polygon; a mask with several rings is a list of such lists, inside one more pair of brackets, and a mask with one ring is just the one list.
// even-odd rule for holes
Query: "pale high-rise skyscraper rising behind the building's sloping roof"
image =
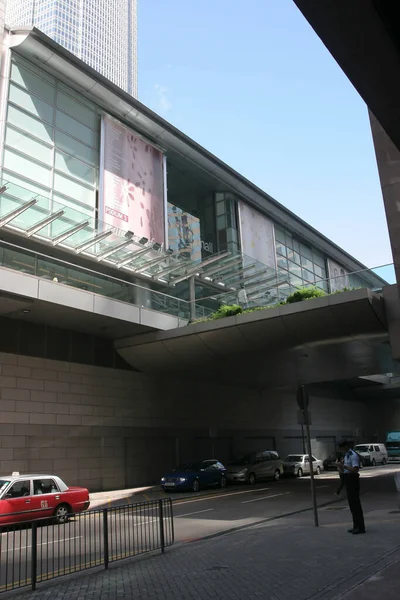
{"label": "pale high-rise skyscraper rising behind the building's sloping roof", "polygon": [[137,96],[137,0],[8,0],[6,24],[34,25]]}

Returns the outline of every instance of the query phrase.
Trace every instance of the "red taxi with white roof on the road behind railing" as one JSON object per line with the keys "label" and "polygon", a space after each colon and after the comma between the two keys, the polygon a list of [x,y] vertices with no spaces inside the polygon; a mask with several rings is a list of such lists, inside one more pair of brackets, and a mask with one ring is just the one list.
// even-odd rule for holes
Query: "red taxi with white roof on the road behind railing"
{"label": "red taxi with white roof on the road behind railing", "polygon": [[68,487],[56,475],[0,476],[0,526],[49,517],[65,523],[89,505],[87,489]]}

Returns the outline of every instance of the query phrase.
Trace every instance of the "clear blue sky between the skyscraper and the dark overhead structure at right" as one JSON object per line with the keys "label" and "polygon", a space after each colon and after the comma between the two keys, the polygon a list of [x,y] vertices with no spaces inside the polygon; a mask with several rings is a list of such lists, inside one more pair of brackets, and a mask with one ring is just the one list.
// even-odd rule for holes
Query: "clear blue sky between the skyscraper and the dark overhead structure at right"
{"label": "clear blue sky between the skyscraper and the dark overhead structure at right", "polygon": [[369,267],[392,262],[366,106],[292,0],[139,0],[139,99]]}

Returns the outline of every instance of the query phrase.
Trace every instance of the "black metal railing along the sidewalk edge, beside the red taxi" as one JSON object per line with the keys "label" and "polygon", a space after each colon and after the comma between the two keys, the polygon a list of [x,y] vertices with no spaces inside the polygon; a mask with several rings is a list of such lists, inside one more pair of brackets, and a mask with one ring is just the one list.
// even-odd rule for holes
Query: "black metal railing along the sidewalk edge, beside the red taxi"
{"label": "black metal railing along the sidewalk edge, beside the red taxi", "polygon": [[[6,515],[1,515],[4,518]],[[56,577],[160,550],[174,543],[170,498],[12,525],[0,532],[0,593],[36,589]]]}

